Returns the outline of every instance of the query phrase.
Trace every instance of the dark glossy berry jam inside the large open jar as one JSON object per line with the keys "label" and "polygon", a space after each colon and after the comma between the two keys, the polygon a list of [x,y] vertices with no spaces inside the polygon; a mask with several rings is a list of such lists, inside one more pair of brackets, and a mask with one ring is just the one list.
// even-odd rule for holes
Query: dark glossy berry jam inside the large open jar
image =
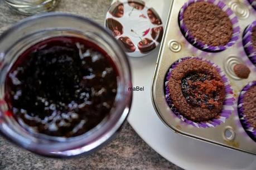
{"label": "dark glossy berry jam inside the large open jar", "polygon": [[55,37],[28,48],[6,79],[9,111],[33,132],[74,137],[109,115],[117,95],[117,69],[99,46]]}

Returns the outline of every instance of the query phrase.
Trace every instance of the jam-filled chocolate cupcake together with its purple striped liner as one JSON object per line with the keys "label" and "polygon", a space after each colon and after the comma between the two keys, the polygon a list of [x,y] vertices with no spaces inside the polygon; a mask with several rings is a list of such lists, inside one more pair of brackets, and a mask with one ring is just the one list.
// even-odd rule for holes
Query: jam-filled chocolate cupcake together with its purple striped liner
{"label": "jam-filled chocolate cupcake together with its purple striped liner", "polygon": [[165,94],[173,113],[198,128],[225,122],[233,110],[228,79],[219,67],[198,57],[186,57],[172,64]]}

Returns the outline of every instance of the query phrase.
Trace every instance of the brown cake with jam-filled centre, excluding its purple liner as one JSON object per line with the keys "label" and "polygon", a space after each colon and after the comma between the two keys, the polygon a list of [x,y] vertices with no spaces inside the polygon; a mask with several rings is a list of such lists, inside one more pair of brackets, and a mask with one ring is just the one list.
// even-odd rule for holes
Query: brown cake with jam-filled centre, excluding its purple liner
{"label": "brown cake with jam-filled centre, excluding its purple liner", "polygon": [[193,122],[218,118],[225,99],[225,86],[218,70],[207,61],[187,59],[171,72],[170,99],[178,113]]}

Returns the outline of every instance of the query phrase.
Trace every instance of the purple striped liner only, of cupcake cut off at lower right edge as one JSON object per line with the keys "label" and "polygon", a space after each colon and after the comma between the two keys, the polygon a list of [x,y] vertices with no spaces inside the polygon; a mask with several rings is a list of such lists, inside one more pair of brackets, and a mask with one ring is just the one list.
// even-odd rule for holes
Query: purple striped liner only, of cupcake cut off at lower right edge
{"label": "purple striped liner only, of cupcake cut off at lower right edge", "polygon": [[250,124],[247,121],[247,117],[244,115],[244,94],[252,87],[256,86],[256,81],[250,82],[248,85],[246,85],[243,90],[241,90],[241,93],[238,98],[238,115],[240,118],[240,122],[243,125],[245,131],[247,134],[252,137],[256,141],[256,129],[250,126]]}

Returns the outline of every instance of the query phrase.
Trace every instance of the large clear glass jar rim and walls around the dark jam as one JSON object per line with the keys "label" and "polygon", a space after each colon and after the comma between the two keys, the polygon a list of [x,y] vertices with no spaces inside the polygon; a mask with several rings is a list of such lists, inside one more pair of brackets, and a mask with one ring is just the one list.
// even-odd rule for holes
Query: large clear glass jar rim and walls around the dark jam
{"label": "large clear glass jar rim and walls around the dark jam", "polygon": [[[84,38],[96,43],[113,60],[118,76],[115,107],[95,128],[77,137],[52,137],[31,133],[7,114],[4,100],[7,72],[17,58],[36,43],[57,36]],[[0,36],[0,132],[12,142],[48,157],[70,157],[90,153],[110,139],[127,118],[132,101],[131,69],[115,38],[102,26],[86,18],[65,13],[45,13],[26,18]]]}

